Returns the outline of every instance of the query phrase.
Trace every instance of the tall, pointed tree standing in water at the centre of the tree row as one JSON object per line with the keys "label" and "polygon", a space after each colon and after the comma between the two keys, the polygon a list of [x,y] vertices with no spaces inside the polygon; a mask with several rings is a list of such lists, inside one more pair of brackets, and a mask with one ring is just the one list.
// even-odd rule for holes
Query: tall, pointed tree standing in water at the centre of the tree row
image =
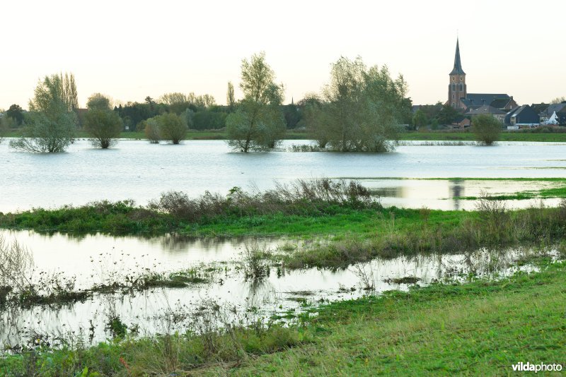
{"label": "tall, pointed tree standing in water at the centre of the tree row", "polygon": [[265,53],[242,61],[240,88],[243,100],[236,112],[226,118],[228,144],[234,150],[274,148],[285,132],[281,112],[283,88],[275,84],[275,73],[265,62]]}

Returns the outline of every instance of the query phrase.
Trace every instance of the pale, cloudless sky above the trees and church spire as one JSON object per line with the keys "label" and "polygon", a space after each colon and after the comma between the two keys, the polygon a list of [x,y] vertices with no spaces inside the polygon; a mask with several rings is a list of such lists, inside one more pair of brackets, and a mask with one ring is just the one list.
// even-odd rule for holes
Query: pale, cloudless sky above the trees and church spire
{"label": "pale, cloudless sky above the trees and church spire", "polygon": [[566,1],[8,1],[1,6],[0,109],[28,107],[37,81],[74,73],[79,106],[166,92],[239,92],[243,58],[264,51],[286,102],[318,92],[330,64],[362,56],[408,83],[413,104],[445,102],[456,37],[468,92],[519,104],[566,95]]}

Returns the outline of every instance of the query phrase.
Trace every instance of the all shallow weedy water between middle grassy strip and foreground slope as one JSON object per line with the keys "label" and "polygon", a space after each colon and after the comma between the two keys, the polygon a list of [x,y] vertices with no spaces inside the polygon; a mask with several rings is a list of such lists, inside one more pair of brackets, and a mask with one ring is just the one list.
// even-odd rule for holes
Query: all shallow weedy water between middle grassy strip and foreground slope
{"label": "all shallow weedy water between middle grassy strip and foreground slope", "polygon": [[[265,321],[274,314],[284,316],[289,311],[301,311],[304,301],[316,304],[362,297],[368,293],[364,289],[364,279],[374,282],[372,292],[379,294],[390,289],[408,289],[408,284],[391,281],[401,277],[417,277],[418,284],[427,285],[437,280],[466,279],[470,275],[508,275],[519,270],[514,261],[537,252],[531,249],[482,249],[451,255],[378,258],[371,263],[337,271],[284,270],[271,266],[270,274],[264,280],[253,282],[246,280],[241,269],[241,253],[250,239],[171,241],[171,236],[135,239],[101,235],[74,239],[60,234],[44,236],[8,231],[1,235],[7,241],[25,240],[25,246],[33,252],[36,276],[44,272],[76,277],[77,288],[100,284],[108,277],[119,281],[127,274],[144,272],[148,266],[152,271],[169,272],[215,267],[208,275],[208,282],[184,288],[95,294],[86,301],[62,307],[3,309],[0,311],[0,345],[11,347],[38,338],[54,342],[71,333],[86,342],[100,342],[110,337],[106,323],[112,316],[119,316],[129,328],[138,328],[140,335],[186,330],[195,318],[190,313],[202,311],[210,302],[219,304],[231,320],[251,315]],[[288,242],[255,241],[271,249]],[[529,265],[522,269],[528,270]],[[184,316],[184,319],[175,323],[167,320],[175,315]]]}

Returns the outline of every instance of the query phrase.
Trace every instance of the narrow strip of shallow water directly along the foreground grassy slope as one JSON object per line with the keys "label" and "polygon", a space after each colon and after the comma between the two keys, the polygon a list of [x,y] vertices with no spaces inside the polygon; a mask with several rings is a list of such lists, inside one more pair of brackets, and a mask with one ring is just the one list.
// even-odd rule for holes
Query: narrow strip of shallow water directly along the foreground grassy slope
{"label": "narrow strip of shallow water directly along the foreground grassy slope", "polygon": [[[390,289],[408,289],[406,278],[427,285],[437,281],[469,280],[476,277],[505,276],[517,270],[532,269],[529,261],[540,256],[555,256],[554,249],[480,249],[442,255],[438,253],[376,259],[369,264],[351,266],[345,270],[279,270],[264,280],[246,281],[243,271],[223,270],[208,284],[182,289],[156,288],[144,292],[96,294],[91,299],[59,307],[37,306],[30,309],[6,307],[0,310],[0,344],[9,346],[42,338],[62,336],[65,332],[80,335],[85,341],[103,341],[110,335],[108,321],[118,316],[128,328],[141,334],[153,334],[163,325],[163,318],[189,316],[210,303],[230,307],[225,316],[239,318],[254,313],[269,318],[274,313],[284,315],[298,311],[304,302],[354,299],[371,292],[379,294]],[[363,274],[360,271],[363,270]],[[404,279],[405,278],[405,279]],[[369,288],[371,286],[371,288]],[[183,314],[184,313],[184,314]],[[186,329],[180,321],[175,330]],[[57,336],[55,336],[57,335]]]}

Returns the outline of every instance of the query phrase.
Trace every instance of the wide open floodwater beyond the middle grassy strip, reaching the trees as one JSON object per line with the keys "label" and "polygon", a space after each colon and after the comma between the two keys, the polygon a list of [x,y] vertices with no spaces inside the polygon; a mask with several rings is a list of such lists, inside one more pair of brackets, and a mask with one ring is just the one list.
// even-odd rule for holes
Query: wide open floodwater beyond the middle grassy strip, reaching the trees
{"label": "wide open floodwater beyond the middle grassy strip, reaching the trees", "polygon": [[[311,142],[285,140],[281,149],[306,143]],[[206,190],[225,194],[233,186],[267,189],[275,181],[317,177],[360,179],[369,187],[381,188],[384,205],[466,208],[473,203],[462,203],[458,196],[474,196],[483,186],[490,186],[494,192],[514,192],[524,183],[509,186],[500,181],[388,178],[563,177],[566,160],[560,158],[565,150],[565,143],[502,142],[496,147],[480,147],[415,142],[383,154],[246,154],[231,152],[221,140],[189,140],[181,145],[121,140],[110,150],[94,149],[87,140],[77,140],[65,153],[34,154],[11,150],[5,140],[0,144],[0,211],[82,205],[97,200],[133,199],[144,205],[170,190],[185,191],[190,196]]]}

